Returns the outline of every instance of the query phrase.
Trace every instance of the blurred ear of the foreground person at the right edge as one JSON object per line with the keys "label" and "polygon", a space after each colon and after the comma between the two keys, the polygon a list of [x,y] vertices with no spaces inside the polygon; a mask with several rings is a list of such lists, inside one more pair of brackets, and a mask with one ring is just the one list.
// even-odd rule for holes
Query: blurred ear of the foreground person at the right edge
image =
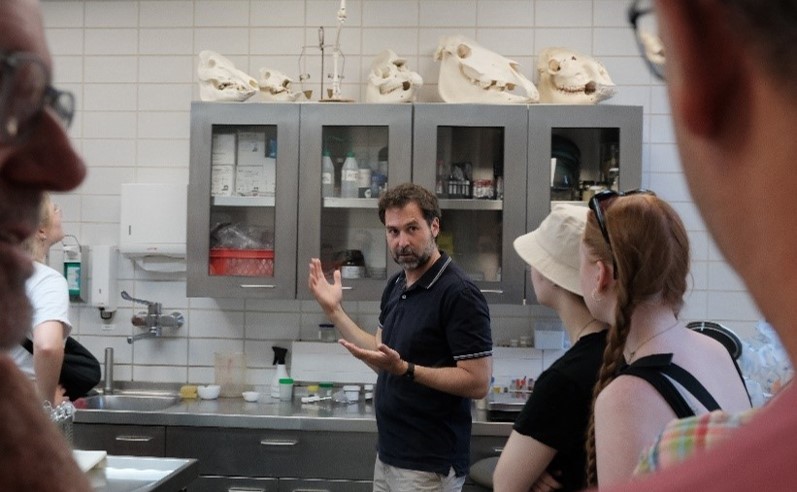
{"label": "blurred ear of the foreground person at the right edge", "polygon": [[[673,116],[690,132],[716,137],[728,117],[738,118],[745,79],[738,35],[718,0],[662,0],[656,4],[665,45]],[[736,114],[728,111],[734,108]]]}

